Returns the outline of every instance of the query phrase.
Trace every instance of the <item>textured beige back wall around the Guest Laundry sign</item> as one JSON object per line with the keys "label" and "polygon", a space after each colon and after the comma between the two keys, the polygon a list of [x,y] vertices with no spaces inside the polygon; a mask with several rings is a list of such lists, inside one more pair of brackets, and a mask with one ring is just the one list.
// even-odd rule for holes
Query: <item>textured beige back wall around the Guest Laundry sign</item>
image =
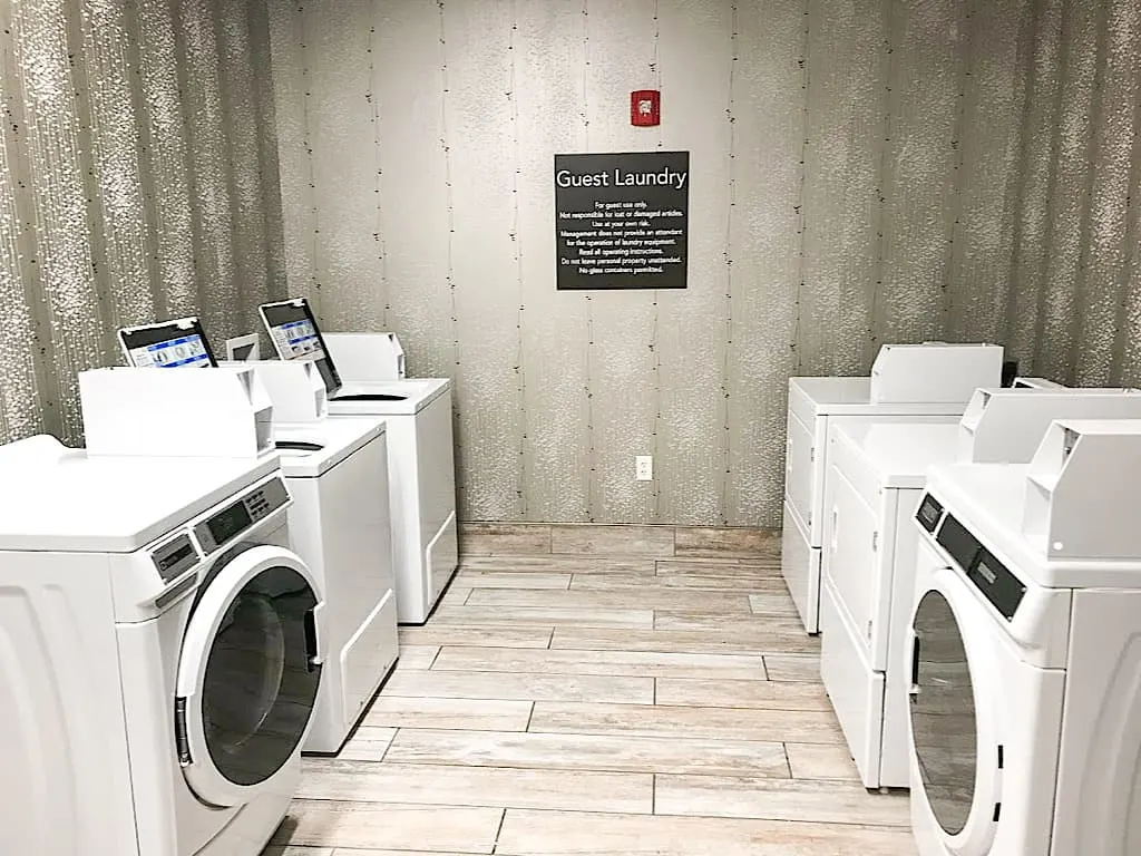
{"label": "textured beige back wall around the Guest Laundry sign", "polygon": [[[455,379],[466,519],[775,525],[790,374],[1006,334],[1030,0],[270,10],[290,290]],[[658,147],[689,289],[556,292],[552,155]]]}

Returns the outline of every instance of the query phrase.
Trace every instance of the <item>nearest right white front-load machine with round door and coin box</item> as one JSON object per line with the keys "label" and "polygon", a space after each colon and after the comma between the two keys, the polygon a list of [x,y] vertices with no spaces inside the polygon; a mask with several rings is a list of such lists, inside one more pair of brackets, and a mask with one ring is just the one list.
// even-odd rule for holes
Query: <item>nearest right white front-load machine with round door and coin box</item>
{"label": "nearest right white front-load machine with round door and coin box", "polygon": [[1138,421],[931,469],[904,661],[922,856],[1141,853],[1139,479]]}

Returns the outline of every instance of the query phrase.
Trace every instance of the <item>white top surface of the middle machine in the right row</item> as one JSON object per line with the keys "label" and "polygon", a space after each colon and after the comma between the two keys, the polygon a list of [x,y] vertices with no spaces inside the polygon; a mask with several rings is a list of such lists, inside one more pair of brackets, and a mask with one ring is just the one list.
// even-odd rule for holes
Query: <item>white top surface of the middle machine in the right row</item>
{"label": "white top surface of the middle machine in the right row", "polygon": [[955,462],[958,426],[954,423],[859,421],[835,430],[856,446],[881,487],[923,487],[928,468]]}

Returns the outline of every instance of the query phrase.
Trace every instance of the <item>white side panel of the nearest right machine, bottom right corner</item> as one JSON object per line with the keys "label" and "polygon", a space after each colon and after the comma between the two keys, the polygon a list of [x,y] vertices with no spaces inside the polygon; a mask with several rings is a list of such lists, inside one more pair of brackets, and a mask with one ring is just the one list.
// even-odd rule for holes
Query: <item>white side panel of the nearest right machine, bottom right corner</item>
{"label": "white side panel of the nearest right machine, bottom right corner", "polygon": [[1055,855],[1141,853],[1141,592],[1074,592]]}

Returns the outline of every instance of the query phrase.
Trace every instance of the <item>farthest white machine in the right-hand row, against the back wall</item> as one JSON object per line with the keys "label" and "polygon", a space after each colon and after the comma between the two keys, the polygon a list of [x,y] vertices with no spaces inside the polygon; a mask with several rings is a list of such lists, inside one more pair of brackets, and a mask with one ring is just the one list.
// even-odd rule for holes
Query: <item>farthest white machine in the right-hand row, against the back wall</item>
{"label": "farthest white machine in the right-hand row, against the back wall", "polygon": [[780,572],[809,633],[820,630],[828,428],[869,420],[950,425],[978,387],[996,387],[995,345],[884,345],[868,378],[791,378]]}

